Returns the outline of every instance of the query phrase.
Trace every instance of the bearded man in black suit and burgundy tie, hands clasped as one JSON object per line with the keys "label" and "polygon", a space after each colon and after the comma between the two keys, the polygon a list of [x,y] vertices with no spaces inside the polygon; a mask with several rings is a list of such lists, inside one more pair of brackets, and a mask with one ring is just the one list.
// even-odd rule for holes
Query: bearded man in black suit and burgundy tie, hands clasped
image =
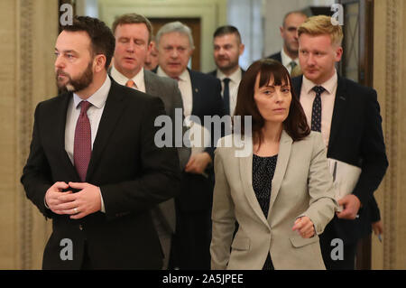
{"label": "bearded man in black suit and burgundy tie, hands clasped", "polygon": [[55,45],[65,92],[37,106],[21,178],[27,198],[52,219],[43,269],[162,265],[150,209],[179,190],[178,155],[154,144],[161,99],[107,76],[114,51],[110,29],[90,17],[63,27]]}

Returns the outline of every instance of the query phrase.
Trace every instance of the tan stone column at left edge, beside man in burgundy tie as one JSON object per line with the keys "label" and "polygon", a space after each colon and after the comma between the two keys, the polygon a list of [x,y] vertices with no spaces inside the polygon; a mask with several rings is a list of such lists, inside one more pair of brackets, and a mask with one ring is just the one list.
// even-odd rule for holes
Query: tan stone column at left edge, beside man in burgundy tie
{"label": "tan stone column at left edge, beside man in burgundy tie", "polygon": [[34,108],[56,95],[58,1],[2,0],[0,19],[0,269],[40,269],[51,221],[26,200],[20,177]]}

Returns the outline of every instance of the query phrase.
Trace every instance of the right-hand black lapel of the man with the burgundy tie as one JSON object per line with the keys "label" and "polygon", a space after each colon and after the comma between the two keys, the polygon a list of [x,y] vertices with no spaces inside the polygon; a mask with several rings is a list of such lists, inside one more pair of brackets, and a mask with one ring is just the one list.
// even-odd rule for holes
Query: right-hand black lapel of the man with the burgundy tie
{"label": "right-hand black lapel of the man with the burgundy tie", "polygon": [[108,92],[106,106],[103,110],[100,124],[98,125],[90,163],[88,164],[88,174],[86,176],[87,181],[92,176],[95,167],[97,167],[97,163],[102,156],[103,150],[108,143],[108,140],[110,139],[110,135],[118,127],[117,122],[120,116],[123,115],[123,110],[125,109],[125,101],[123,101],[123,95],[120,94],[119,90],[120,86],[115,83],[115,80],[111,79],[111,88]]}

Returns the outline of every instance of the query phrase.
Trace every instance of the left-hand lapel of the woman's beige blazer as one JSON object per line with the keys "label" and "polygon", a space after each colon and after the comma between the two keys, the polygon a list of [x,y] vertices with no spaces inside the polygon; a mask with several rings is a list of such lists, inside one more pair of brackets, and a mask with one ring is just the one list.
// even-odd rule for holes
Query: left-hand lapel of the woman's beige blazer
{"label": "left-hand lapel of the woman's beige blazer", "polygon": [[263,224],[269,225],[266,218],[263,216],[263,209],[256,199],[255,191],[253,188],[253,153],[247,157],[239,157],[240,164],[240,179],[243,182],[243,190],[248,203],[254,210],[255,214],[261,218]]}

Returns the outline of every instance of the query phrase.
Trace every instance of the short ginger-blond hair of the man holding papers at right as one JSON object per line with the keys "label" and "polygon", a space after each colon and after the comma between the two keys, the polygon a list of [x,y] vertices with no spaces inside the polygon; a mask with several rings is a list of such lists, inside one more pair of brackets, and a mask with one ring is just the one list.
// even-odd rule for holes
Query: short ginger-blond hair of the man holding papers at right
{"label": "short ginger-blond hair of the man holding papers at right", "polygon": [[302,23],[298,29],[298,35],[309,34],[318,36],[323,34],[330,35],[331,44],[340,46],[343,41],[343,30],[340,25],[333,25],[331,17],[326,15],[318,15],[309,17]]}

